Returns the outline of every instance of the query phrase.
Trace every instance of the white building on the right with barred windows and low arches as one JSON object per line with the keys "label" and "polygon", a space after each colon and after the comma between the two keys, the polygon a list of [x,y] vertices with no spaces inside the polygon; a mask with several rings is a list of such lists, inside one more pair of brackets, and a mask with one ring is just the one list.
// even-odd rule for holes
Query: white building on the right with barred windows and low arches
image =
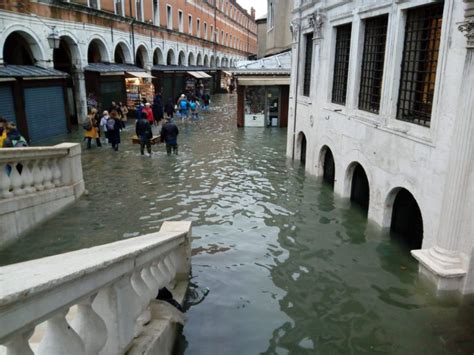
{"label": "white building on the right with barred windows and low arches", "polygon": [[474,292],[474,1],[295,0],[287,155]]}

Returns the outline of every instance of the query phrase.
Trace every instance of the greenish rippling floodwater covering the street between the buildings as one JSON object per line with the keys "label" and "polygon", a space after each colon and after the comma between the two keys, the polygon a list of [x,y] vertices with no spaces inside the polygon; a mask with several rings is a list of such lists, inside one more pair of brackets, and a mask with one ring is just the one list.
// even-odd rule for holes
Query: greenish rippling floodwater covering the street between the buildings
{"label": "greenish rippling floodwater covering the street between the buildings", "polygon": [[191,288],[210,292],[188,309],[177,353],[472,354],[473,302],[437,299],[403,244],[285,158],[285,130],[237,129],[235,104],[216,97],[180,123],[178,156],[139,156],[132,127],[119,152],[85,151],[88,195],[1,263],[190,220]]}

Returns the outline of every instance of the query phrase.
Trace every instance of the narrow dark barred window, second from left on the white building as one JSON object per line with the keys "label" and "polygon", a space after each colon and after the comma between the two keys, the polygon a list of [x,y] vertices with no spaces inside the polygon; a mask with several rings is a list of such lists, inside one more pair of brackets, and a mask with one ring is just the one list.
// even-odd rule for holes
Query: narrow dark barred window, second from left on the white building
{"label": "narrow dark barred window, second from left on the white building", "polygon": [[334,60],[334,78],[332,102],[345,105],[347,95],[347,76],[349,74],[349,53],[351,48],[352,24],[337,27],[336,58]]}

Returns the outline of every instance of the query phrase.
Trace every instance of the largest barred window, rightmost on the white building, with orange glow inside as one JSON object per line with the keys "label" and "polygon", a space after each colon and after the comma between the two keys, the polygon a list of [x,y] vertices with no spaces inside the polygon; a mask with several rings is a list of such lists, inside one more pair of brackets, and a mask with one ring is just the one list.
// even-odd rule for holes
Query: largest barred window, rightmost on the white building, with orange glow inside
{"label": "largest barred window, rightmost on the white building, with orange glow inside", "polygon": [[443,4],[409,10],[397,118],[430,126]]}

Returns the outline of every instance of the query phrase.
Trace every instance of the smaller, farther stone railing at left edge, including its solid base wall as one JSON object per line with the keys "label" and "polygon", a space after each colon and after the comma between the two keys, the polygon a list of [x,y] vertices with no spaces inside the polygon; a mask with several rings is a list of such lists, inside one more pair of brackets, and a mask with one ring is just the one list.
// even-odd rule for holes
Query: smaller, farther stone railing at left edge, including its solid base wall
{"label": "smaller, farther stone railing at left edge, including its solid base wall", "polygon": [[0,149],[0,245],[83,192],[79,144]]}

